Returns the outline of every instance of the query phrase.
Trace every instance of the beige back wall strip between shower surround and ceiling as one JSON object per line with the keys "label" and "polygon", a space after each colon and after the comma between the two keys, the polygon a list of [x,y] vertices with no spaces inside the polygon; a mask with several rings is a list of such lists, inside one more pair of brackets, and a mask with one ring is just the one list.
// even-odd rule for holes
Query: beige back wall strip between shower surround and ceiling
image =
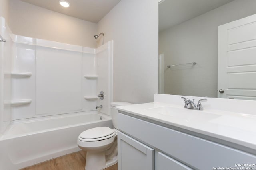
{"label": "beige back wall strip between shower surround and ceiling", "polygon": [[97,24],[20,0],[10,0],[10,28],[16,35],[96,47]]}

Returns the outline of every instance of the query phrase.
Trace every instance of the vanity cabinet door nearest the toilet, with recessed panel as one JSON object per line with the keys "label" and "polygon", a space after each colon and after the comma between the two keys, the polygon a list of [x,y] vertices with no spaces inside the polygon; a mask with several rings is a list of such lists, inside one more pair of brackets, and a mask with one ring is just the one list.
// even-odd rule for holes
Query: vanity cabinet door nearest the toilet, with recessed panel
{"label": "vanity cabinet door nearest the toilet, with recessed panel", "polygon": [[154,149],[118,132],[118,170],[154,170]]}

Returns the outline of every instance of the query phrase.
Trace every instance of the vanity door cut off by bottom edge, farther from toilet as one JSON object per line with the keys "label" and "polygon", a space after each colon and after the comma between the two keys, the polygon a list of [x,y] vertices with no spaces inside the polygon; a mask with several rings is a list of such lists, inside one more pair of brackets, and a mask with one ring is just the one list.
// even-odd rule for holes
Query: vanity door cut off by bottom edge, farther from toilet
{"label": "vanity door cut off by bottom edge, farther from toilet", "polygon": [[192,170],[188,166],[161,153],[156,153],[156,170]]}

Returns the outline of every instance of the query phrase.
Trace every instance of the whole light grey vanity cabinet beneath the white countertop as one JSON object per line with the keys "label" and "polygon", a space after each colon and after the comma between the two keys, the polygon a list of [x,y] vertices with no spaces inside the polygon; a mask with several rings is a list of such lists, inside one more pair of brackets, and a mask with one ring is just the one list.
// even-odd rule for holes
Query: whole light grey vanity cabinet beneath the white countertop
{"label": "whole light grey vanity cabinet beneath the white countertop", "polygon": [[[253,154],[151,123],[124,111],[118,113],[118,129],[118,170],[136,169],[132,164],[148,162],[150,168],[137,169],[210,170],[256,164]],[[148,152],[150,155],[154,152],[152,162],[147,160]]]}

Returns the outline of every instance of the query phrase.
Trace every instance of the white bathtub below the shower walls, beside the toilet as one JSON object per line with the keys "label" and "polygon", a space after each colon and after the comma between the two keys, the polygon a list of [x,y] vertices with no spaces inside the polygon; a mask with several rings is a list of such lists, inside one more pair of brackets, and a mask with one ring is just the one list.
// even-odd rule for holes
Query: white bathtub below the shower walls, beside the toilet
{"label": "white bathtub below the shower walls, beside the toilet", "polygon": [[17,170],[80,149],[78,135],[93,127],[112,128],[97,111],[12,121],[0,137],[0,170]]}

